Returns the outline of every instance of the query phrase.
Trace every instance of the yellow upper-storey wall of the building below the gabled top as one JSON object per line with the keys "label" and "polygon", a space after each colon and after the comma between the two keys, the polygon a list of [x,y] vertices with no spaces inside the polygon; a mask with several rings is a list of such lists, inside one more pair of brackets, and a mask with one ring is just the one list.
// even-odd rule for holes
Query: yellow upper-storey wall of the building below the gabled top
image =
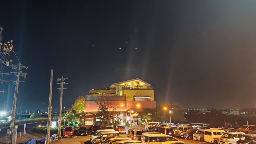
{"label": "yellow upper-storey wall of the building below the gabled top", "polygon": [[155,101],[153,89],[122,89],[122,95],[126,96],[126,101],[133,101],[133,96],[150,96],[151,101]]}

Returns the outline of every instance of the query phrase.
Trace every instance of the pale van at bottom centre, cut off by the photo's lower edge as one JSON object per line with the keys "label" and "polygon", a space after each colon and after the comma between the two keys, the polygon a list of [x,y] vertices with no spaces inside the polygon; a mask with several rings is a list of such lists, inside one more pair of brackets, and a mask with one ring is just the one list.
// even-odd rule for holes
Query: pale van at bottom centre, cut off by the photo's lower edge
{"label": "pale van at bottom centre, cut off by the photo's lower edge", "polygon": [[179,141],[172,136],[166,134],[144,134],[141,142],[145,144],[161,144],[164,141]]}

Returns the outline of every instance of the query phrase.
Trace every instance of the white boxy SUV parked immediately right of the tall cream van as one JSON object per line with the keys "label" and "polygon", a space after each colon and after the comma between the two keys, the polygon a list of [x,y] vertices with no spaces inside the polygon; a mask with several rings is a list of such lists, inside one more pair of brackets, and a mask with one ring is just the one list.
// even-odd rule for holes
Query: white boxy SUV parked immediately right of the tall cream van
{"label": "white boxy SUV parked immediately right of the tall cream van", "polygon": [[222,144],[235,144],[239,140],[240,136],[245,134],[244,132],[224,132],[219,139],[219,143]]}

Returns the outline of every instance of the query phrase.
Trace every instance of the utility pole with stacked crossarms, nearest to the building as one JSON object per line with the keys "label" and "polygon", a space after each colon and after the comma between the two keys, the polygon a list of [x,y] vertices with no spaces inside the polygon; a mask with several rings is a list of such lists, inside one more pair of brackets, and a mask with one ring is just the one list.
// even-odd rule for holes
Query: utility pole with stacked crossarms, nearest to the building
{"label": "utility pole with stacked crossarms, nearest to the building", "polygon": [[[63,78],[63,76],[61,78],[57,78],[57,81],[61,82],[61,83],[57,83],[57,84],[61,85],[61,88],[58,88],[60,90],[60,116],[59,116],[59,121],[58,121],[58,138],[59,139],[61,137],[62,94],[63,94],[63,89],[67,89],[67,88],[63,88],[63,84],[68,84],[68,83],[64,82],[64,80],[66,80],[66,79],[68,79],[68,78]],[[64,109],[65,109],[65,107],[64,107]]]}

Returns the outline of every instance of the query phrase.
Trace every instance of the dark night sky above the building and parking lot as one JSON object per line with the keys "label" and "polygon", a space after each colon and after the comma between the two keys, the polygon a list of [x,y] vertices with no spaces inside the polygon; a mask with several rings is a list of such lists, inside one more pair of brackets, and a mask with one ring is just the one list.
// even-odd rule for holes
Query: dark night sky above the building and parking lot
{"label": "dark night sky above the building and parking lot", "polygon": [[[255,107],[255,7],[250,0],[1,1],[3,37],[29,67],[17,111],[48,110],[51,68],[54,112],[61,76],[69,78],[66,108],[92,88],[134,78],[151,84],[157,105]],[[10,59],[18,65],[13,52]],[[12,108],[13,92],[11,83],[11,102],[0,110]]]}

